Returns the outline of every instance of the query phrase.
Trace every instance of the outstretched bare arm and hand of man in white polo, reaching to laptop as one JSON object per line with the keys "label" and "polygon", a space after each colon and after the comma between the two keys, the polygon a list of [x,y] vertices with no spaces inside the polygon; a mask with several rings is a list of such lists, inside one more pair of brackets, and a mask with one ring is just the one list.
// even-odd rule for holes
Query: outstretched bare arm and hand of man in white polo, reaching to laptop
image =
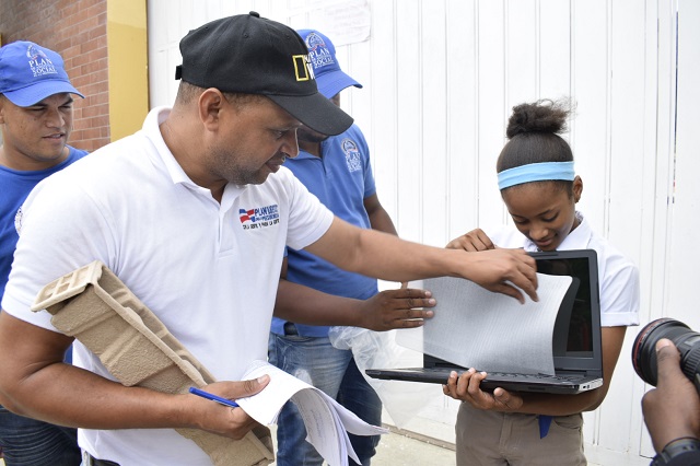
{"label": "outstretched bare arm and hand of man in white polo, reaching to laptop", "polygon": [[305,249],[342,269],[383,280],[405,282],[441,276],[462,277],[524,301],[515,284],[537,299],[535,259],[522,249],[467,253],[425,246],[359,229],[338,218]]}

